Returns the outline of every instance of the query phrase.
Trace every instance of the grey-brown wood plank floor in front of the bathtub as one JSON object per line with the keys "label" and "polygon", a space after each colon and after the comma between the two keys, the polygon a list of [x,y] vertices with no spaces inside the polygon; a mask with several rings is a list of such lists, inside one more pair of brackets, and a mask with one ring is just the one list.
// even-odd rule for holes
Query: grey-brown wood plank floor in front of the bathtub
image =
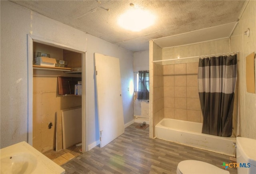
{"label": "grey-brown wood plank floor in front of the bathtub", "polygon": [[[134,123],[104,148],[94,147],[62,167],[67,174],[176,174],[182,160],[200,160],[219,168],[230,157],[160,139],[149,138],[149,128]],[[237,174],[236,168],[227,169]]]}

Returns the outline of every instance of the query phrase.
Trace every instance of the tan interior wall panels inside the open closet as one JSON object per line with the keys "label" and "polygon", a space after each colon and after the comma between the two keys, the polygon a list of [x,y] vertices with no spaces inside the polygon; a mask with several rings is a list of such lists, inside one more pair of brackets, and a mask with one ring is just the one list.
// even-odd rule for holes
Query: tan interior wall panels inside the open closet
{"label": "tan interior wall panels inside the open closet", "polygon": [[[57,60],[68,59],[70,67],[81,66],[81,54],[58,47],[33,43],[34,52],[49,53]],[[76,59],[76,61],[71,61]],[[66,60],[66,59],[65,59]],[[63,71],[44,69],[33,70],[33,147],[40,152],[56,148],[56,141],[62,149],[61,111],[82,106],[82,98],[75,95],[59,95],[58,76],[81,77],[81,74],[68,74]],[[57,123],[56,123],[57,120]],[[48,124],[52,122],[52,128]],[[58,142],[60,141],[60,142]]]}

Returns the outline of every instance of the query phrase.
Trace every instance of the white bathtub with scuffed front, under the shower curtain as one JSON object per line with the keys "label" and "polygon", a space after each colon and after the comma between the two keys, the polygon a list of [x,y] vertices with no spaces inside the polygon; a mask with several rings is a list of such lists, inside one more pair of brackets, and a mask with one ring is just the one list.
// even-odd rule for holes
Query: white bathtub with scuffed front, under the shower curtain
{"label": "white bathtub with scuffed front, under the shower curtain", "polygon": [[202,123],[162,119],[155,126],[156,138],[192,146],[228,156],[235,156],[236,138],[202,134]]}

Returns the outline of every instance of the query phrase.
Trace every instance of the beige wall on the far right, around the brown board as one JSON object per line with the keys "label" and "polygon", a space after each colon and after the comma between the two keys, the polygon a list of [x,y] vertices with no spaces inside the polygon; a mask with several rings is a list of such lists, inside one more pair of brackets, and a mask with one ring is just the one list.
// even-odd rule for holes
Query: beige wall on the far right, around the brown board
{"label": "beige wall on the far right, around the brown board", "polygon": [[[250,28],[250,36],[244,32]],[[238,97],[240,130],[238,134],[256,139],[256,95],[246,91],[246,56],[256,52],[256,1],[249,1],[231,36],[231,51],[240,51],[238,57]],[[239,126],[238,126],[239,127]]]}

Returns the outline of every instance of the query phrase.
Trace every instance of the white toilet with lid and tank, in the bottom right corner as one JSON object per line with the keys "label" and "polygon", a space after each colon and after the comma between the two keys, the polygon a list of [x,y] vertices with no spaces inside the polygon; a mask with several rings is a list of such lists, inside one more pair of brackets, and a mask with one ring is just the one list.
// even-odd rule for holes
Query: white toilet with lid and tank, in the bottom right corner
{"label": "white toilet with lid and tank, in the bottom right corner", "polygon": [[[256,140],[244,137],[236,138],[236,163],[238,174],[256,174]],[[221,162],[220,162],[221,163]],[[197,161],[181,161],[177,174],[229,174],[227,170],[212,164]]]}

